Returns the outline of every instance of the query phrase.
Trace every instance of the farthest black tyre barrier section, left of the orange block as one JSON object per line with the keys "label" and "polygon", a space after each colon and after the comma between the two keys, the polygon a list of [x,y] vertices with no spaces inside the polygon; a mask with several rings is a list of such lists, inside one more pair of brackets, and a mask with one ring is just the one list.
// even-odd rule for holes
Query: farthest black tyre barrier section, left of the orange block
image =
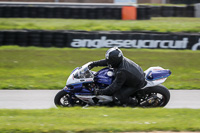
{"label": "farthest black tyre barrier section, left of the orange block", "polygon": [[122,7],[0,5],[1,18],[121,19]]}

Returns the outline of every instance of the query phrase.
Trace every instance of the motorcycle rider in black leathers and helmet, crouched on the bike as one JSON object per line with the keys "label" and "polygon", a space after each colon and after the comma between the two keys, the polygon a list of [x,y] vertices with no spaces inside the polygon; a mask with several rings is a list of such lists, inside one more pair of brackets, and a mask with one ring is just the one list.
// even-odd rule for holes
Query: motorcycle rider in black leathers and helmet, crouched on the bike
{"label": "motorcycle rider in black leathers and helmet, crouched on the bike", "polygon": [[124,57],[122,51],[117,47],[110,48],[105,57],[106,59],[93,61],[88,67],[92,69],[97,66],[109,66],[114,69],[115,79],[105,89],[95,90],[95,94],[112,95],[114,101],[122,105],[137,105],[138,101],[130,96],[146,85],[142,68]]}

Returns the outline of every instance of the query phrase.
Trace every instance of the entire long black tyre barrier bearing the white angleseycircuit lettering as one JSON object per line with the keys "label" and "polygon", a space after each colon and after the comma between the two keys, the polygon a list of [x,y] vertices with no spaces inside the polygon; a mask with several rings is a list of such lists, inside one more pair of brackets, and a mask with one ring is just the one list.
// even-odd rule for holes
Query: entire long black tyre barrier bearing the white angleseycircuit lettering
{"label": "entire long black tyre barrier bearing the white angleseycircuit lettering", "polygon": [[4,30],[0,31],[0,45],[200,50],[200,33]]}

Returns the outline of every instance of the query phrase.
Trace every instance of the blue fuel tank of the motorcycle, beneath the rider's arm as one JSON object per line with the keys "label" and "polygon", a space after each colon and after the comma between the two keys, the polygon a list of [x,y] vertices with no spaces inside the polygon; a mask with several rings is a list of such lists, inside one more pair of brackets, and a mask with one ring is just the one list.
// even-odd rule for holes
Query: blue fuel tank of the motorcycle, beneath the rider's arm
{"label": "blue fuel tank of the motorcycle, beneath the rider's arm", "polygon": [[113,72],[113,70],[109,68],[101,69],[95,74],[94,81],[99,84],[110,85],[114,79],[114,76],[108,76],[109,71]]}

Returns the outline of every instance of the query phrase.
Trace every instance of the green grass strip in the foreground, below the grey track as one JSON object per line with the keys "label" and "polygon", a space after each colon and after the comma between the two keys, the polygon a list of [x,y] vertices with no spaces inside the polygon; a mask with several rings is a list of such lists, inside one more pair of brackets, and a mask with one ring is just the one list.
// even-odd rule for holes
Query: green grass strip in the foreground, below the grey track
{"label": "green grass strip in the foreground, below the grey track", "polygon": [[1,133],[200,131],[199,109],[0,110]]}

